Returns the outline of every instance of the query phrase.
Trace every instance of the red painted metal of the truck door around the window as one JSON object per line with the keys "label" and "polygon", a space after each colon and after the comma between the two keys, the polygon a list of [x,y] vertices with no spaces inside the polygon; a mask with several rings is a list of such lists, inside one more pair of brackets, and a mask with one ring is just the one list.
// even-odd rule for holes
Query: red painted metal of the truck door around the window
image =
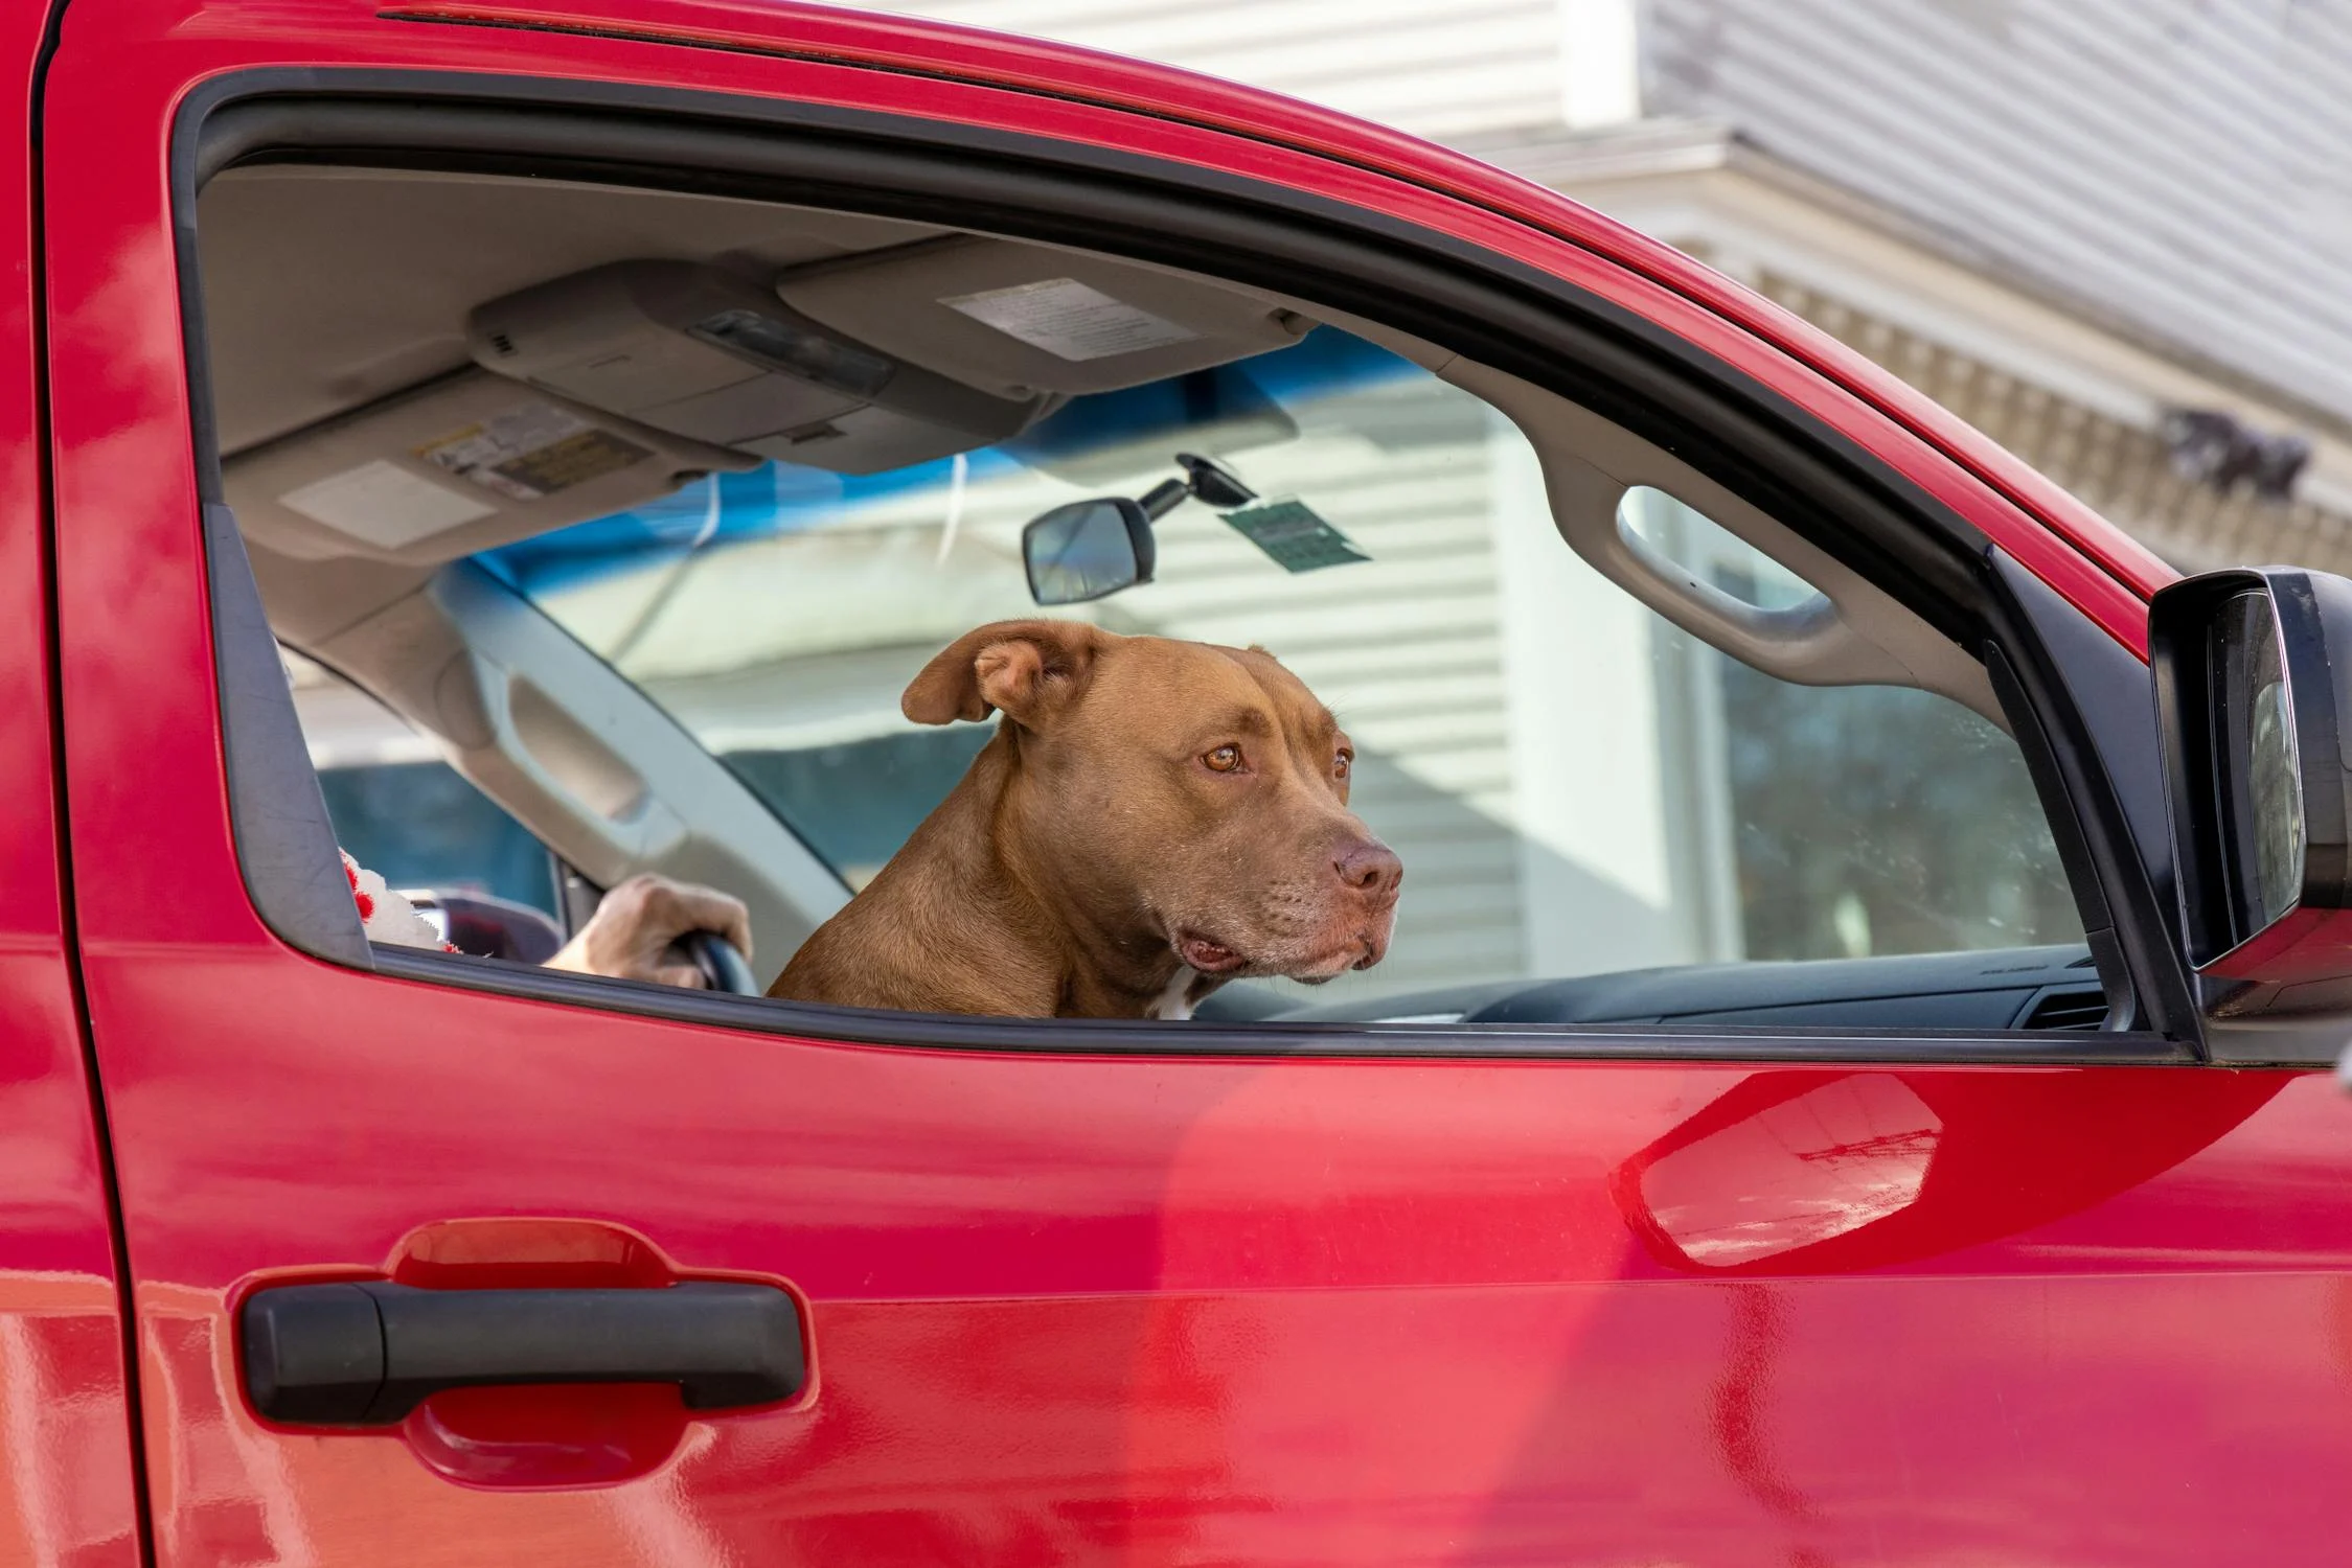
{"label": "red painted metal of the truck door around the window", "polygon": [[[2319,1074],[948,1053],[289,952],[226,823],[162,136],[207,73],[416,63],[1317,188],[1642,308],[2133,635],[2131,585],[1867,397],[1592,249],[1263,139],[350,5],[75,16],[49,87],[61,696],[165,1568],[2340,1556],[2352,1117]],[[626,1446],[656,1410],[435,1401],[522,1467],[461,1481],[416,1429],[252,1418],[242,1288],[376,1272],[454,1220],[529,1222],[468,1229],[485,1267],[619,1227],[677,1269],[788,1279],[821,1385],[569,1490],[539,1486],[543,1450],[597,1420]]]}

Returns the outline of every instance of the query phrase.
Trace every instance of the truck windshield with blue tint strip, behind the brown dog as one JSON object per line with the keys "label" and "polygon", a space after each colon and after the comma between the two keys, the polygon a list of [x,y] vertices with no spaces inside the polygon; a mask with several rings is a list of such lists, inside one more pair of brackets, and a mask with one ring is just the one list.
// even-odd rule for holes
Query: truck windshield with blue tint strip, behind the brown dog
{"label": "truck windshield with blue tint strip, behind the brown dog", "polygon": [[[1211,456],[1251,505],[1155,524],[1155,576],[1040,609],[1023,527]],[[1298,501],[1298,555],[1251,531]],[[1811,595],[1658,491],[1628,531],[1759,604]],[[1287,555],[1289,552],[1289,555]],[[988,724],[898,693],[985,621],[1263,644],[1357,745],[1355,809],[1409,867],[1392,957],[1343,987],[2079,936],[2013,743],[1912,689],[1790,686],[1693,642],[1562,543],[1526,437],[1336,329],[882,475],[767,463],[485,552],[642,686],[849,886],[938,804]],[[1336,999],[1336,992],[1322,992]]]}

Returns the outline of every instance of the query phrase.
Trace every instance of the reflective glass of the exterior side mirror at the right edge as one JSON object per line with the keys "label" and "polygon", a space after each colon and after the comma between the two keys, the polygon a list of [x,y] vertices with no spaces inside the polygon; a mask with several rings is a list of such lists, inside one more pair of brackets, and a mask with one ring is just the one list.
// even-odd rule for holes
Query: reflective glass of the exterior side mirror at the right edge
{"label": "reflective glass of the exterior side mirror at the right edge", "polygon": [[2303,891],[2303,780],[2296,722],[2279,654],[2279,623],[2265,592],[2223,604],[2213,637],[2216,731],[2225,748],[2223,797],[2239,891],[2239,940],[2296,907]]}

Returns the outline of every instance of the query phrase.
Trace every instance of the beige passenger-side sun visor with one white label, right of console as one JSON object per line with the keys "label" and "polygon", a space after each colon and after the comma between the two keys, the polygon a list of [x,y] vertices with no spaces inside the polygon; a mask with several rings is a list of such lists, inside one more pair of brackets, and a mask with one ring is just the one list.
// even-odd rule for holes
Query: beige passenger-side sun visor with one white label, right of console
{"label": "beige passenger-side sun visor with one white label, right of console", "polygon": [[795,268],[776,294],[870,348],[1009,397],[1110,393],[1289,348],[1315,327],[1176,273],[983,237]]}

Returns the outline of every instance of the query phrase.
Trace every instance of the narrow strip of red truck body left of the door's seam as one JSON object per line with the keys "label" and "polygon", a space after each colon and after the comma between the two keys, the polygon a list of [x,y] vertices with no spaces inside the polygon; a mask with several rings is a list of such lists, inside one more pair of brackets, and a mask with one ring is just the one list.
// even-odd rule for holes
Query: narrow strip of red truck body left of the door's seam
{"label": "narrow strip of red truck body left of the door's seam", "polygon": [[[31,120],[47,7],[0,5]],[[64,940],[33,355],[33,167],[0,160],[0,1563],[139,1563],[106,1182]]]}

